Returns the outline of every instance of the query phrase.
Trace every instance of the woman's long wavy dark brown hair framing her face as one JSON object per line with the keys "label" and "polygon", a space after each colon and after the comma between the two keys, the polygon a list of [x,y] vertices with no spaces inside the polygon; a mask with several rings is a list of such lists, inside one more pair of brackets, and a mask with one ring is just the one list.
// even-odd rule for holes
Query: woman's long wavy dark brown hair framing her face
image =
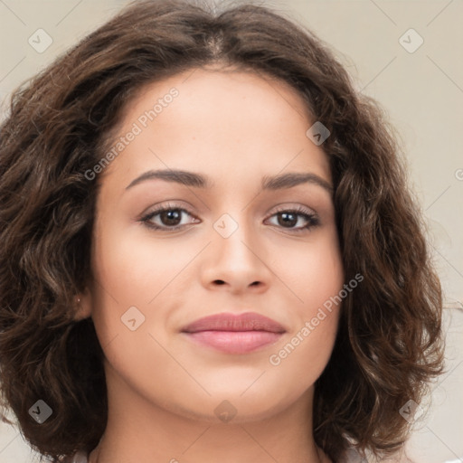
{"label": "woman's long wavy dark brown hair framing her face", "polygon": [[[325,43],[268,7],[214,11],[184,0],[129,5],[14,92],[0,128],[0,371],[5,410],[43,456],[99,442],[108,417],[103,351],[91,318],[73,319],[92,279],[98,177],[111,130],[144,85],[222,64],[288,82],[313,121],[335,185],[345,298],[316,383],[314,435],[336,460],[349,446],[391,455],[399,413],[442,370],[441,288],[420,210],[384,112],[354,90]],[[52,416],[37,423],[39,399]]]}

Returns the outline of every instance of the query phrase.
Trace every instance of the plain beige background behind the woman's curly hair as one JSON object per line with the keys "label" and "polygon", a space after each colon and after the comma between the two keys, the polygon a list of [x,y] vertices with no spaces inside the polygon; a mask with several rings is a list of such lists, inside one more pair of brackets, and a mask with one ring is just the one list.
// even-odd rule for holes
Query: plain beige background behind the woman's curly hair
{"label": "plain beige background behind the woman's curly hair", "polygon": [[[0,0],[2,117],[17,85],[127,3]],[[358,88],[383,104],[402,134],[411,184],[429,224],[431,250],[445,289],[448,331],[448,373],[433,385],[430,409],[416,423],[407,452],[420,463],[463,461],[463,2],[261,3],[330,43]],[[416,33],[406,33],[411,28]],[[52,37],[44,52],[28,43],[38,29]],[[409,52],[420,38],[422,45]],[[18,430],[0,422],[0,463],[32,461]]]}

